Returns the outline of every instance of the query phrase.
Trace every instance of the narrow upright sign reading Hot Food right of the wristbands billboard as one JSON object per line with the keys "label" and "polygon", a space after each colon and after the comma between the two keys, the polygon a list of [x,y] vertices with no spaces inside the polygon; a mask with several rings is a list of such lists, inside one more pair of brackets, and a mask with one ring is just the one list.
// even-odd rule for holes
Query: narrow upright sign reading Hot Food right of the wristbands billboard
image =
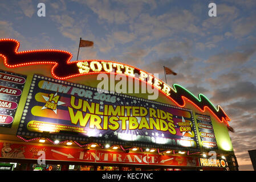
{"label": "narrow upright sign reading Hot Food right of the wristbands billboard", "polygon": [[196,119],[202,147],[218,148],[210,116],[196,113]]}

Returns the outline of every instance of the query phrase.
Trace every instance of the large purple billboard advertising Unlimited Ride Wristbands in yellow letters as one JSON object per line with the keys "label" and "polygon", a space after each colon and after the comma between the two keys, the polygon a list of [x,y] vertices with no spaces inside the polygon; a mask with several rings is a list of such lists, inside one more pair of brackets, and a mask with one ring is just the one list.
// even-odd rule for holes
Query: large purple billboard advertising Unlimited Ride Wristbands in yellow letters
{"label": "large purple billboard advertising Unlimited Ride Wristbands in yellow letters", "polygon": [[199,148],[192,110],[34,75],[17,134],[43,131],[85,142]]}

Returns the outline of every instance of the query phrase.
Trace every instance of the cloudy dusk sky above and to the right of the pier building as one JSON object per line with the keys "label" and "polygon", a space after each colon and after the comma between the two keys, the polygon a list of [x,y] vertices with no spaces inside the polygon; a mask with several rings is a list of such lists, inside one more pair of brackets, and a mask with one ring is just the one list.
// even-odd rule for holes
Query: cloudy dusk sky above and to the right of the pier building
{"label": "cloudy dusk sky above and to the right of the pier building", "polygon": [[[210,17],[214,2],[217,16]],[[46,16],[38,16],[38,3]],[[19,51],[63,49],[76,60],[114,60],[164,78],[163,66],[194,95],[202,93],[231,118],[229,133],[240,170],[253,170],[256,149],[256,1],[1,0],[0,38]]]}

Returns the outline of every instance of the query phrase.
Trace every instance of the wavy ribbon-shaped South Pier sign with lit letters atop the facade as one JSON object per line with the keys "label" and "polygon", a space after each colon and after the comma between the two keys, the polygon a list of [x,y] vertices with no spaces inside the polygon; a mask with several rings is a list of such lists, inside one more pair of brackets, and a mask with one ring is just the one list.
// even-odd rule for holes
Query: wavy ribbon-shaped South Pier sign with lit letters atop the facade
{"label": "wavy ribbon-shaped South Pier sign with lit letters atop the facade", "polygon": [[[0,56],[3,57],[6,67],[16,68],[35,64],[50,64],[52,65],[52,76],[59,80],[98,73],[113,73],[129,76],[159,89],[161,93],[165,94],[166,97],[180,107],[184,107],[185,101],[189,101],[201,111],[205,111],[208,108],[218,121],[225,122],[229,126],[228,121],[230,121],[230,118],[222,108],[220,106],[216,108],[203,94],[199,94],[197,98],[180,85],[174,84],[173,88],[171,88],[159,78],[141,69],[106,60],[70,61],[72,58],[70,52],[56,49],[18,52],[18,48],[19,42],[17,40],[0,39]],[[136,77],[136,75],[138,76]]]}

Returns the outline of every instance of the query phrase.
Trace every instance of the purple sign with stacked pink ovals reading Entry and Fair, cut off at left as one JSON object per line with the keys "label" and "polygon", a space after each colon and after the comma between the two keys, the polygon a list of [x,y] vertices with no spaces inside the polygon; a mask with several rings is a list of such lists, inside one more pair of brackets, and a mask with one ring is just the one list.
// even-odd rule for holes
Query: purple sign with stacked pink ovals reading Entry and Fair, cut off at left
{"label": "purple sign with stacked pink ovals reading Entry and Fair, cut off at left", "polygon": [[11,127],[22,90],[25,75],[0,70],[0,126]]}

